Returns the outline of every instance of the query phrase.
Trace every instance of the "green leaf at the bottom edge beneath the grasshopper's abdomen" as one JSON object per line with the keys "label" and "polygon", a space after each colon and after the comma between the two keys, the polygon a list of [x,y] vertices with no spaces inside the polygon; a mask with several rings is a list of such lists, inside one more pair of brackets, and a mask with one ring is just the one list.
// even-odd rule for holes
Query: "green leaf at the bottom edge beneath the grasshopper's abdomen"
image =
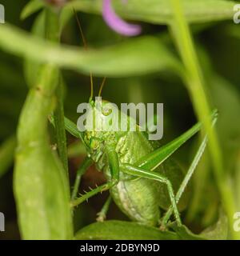
{"label": "green leaf at the bottom edge beneath the grasshopper's abdomen", "polygon": [[77,240],[175,240],[178,236],[170,231],[143,226],[136,222],[95,222],[82,228],[75,235]]}

